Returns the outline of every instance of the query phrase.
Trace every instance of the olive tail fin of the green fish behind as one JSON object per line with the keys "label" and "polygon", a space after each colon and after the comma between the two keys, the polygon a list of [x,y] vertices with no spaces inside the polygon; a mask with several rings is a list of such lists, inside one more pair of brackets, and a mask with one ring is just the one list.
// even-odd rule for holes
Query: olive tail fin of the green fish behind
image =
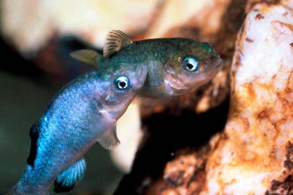
{"label": "olive tail fin of the green fish behind", "polygon": [[96,52],[95,50],[86,49],[71,52],[70,56],[93,67],[98,67],[97,59],[103,57],[102,54]]}

